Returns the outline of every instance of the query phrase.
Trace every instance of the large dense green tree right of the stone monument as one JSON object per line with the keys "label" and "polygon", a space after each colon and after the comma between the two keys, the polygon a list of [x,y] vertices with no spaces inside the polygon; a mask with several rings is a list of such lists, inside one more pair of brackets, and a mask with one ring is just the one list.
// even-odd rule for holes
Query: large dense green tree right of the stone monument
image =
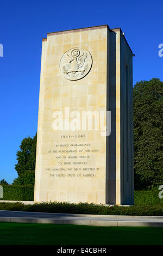
{"label": "large dense green tree right of the stone monument", "polygon": [[135,189],[163,184],[163,82],[137,82],[133,89]]}

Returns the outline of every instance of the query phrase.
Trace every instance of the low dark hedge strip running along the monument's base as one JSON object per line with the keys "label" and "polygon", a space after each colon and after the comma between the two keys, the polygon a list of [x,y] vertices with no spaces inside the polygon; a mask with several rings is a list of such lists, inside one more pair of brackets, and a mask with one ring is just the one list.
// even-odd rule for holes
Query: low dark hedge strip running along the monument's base
{"label": "low dark hedge strip running along the monument's base", "polygon": [[0,210],[58,212],[65,214],[99,214],[99,215],[134,215],[134,216],[163,216],[163,204],[134,205],[134,206],[104,206],[87,203],[37,203],[25,205],[16,203],[1,203]]}

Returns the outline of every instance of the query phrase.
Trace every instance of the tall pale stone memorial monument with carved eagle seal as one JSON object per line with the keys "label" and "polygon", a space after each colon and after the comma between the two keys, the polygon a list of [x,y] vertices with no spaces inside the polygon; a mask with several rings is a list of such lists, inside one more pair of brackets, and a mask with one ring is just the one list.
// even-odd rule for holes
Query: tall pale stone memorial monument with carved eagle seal
{"label": "tall pale stone memorial monument with carved eagle seal", "polygon": [[42,40],[35,202],[134,203],[132,59],[108,25]]}

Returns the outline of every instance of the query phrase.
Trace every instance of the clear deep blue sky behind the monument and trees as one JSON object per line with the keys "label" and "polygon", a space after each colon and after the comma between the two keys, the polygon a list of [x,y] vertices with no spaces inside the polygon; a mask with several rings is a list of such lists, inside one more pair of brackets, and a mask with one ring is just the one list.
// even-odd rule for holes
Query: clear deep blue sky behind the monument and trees
{"label": "clear deep blue sky behind the monument and trees", "polygon": [[163,81],[163,2],[160,1],[1,1],[0,180],[17,177],[16,151],[37,130],[42,38],[46,33],[108,24],[121,27],[133,58],[133,83]]}

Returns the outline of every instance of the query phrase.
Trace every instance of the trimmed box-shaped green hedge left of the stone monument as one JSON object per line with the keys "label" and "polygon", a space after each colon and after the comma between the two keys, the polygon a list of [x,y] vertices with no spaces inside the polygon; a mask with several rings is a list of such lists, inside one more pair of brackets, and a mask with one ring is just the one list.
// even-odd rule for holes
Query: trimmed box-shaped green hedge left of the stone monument
{"label": "trimmed box-shaped green hedge left of the stone monument", "polygon": [[3,198],[1,200],[33,201],[34,186],[3,185]]}

